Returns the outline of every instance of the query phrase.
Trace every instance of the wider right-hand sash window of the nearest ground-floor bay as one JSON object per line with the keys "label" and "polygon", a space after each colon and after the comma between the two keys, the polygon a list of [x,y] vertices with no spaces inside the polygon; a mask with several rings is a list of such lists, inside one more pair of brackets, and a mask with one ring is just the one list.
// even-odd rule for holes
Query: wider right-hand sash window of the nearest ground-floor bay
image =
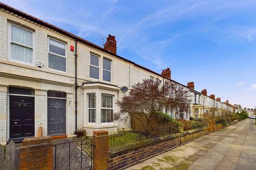
{"label": "wider right-hand sash window of the nearest ground-floor bay", "polygon": [[113,122],[113,96],[101,96],[101,122]]}

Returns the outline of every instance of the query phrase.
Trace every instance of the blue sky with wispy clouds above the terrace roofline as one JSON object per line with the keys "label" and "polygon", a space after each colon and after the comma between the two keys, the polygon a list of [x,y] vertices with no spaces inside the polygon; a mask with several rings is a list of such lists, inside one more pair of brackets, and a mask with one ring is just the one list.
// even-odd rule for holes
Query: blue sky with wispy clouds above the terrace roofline
{"label": "blue sky with wispy clouds above the terrace roofline", "polygon": [[2,1],[242,107],[256,105],[256,1]]}

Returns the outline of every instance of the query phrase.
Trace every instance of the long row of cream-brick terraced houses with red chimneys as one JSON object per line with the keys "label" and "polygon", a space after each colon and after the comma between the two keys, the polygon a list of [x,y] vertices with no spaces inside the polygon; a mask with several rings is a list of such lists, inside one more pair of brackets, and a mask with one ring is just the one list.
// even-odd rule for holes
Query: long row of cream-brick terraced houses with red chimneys
{"label": "long row of cream-brick terraced houses with red chimneys", "polygon": [[[130,128],[113,120],[116,100],[143,79],[173,81],[170,69],[158,74],[118,56],[114,36],[100,47],[11,6],[0,8],[1,143],[34,137],[39,127],[43,135],[63,137],[78,128],[87,134]],[[202,116],[212,106],[227,109],[194,83],[178,84],[194,102],[191,113],[180,111],[177,118]]]}

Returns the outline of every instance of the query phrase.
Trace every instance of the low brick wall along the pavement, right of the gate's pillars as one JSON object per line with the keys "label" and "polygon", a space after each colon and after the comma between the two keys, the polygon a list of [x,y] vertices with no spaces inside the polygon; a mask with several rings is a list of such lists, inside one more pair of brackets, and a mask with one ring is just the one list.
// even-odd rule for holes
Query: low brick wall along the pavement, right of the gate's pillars
{"label": "low brick wall along the pavement, right of the gate's pillars", "polygon": [[161,154],[162,152],[182,145],[182,143],[199,138],[205,135],[206,132],[207,128],[191,130],[184,133],[175,133],[139,141],[138,143],[119,148],[111,148],[107,169],[127,168],[141,162],[143,159]]}

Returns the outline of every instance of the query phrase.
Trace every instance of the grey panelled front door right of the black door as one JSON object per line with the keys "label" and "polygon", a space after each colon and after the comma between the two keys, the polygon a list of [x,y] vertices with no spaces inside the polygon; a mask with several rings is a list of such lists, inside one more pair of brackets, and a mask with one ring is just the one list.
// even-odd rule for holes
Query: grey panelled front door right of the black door
{"label": "grey panelled front door right of the black door", "polygon": [[48,135],[66,134],[66,99],[48,98]]}

